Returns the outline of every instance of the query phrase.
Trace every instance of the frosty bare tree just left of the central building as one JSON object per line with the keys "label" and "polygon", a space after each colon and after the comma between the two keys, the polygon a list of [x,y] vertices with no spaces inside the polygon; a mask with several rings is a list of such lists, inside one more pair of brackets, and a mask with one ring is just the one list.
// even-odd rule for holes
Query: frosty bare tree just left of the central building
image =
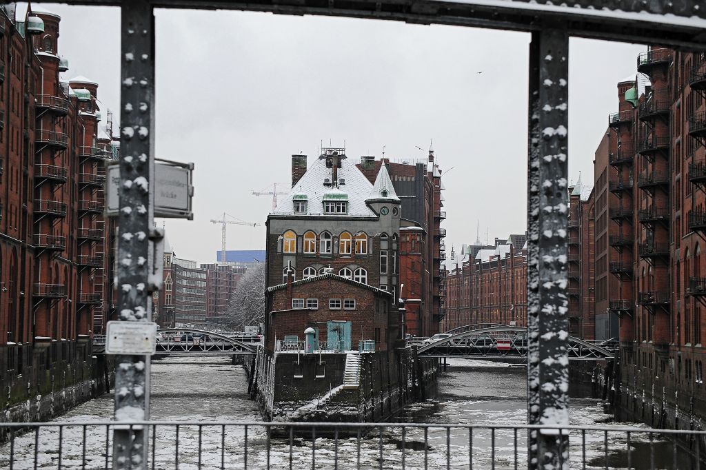
{"label": "frosty bare tree just left of the central building", "polygon": [[236,330],[265,323],[265,264],[246,271],[238,282],[226,313],[226,323]]}

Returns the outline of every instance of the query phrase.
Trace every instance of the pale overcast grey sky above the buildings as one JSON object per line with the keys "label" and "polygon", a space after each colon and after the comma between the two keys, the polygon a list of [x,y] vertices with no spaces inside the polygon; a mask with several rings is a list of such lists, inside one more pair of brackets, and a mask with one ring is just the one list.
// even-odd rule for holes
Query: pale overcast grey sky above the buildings
{"label": "pale overcast grey sky above the buildings", "polygon": [[[100,83],[119,114],[117,8],[47,4],[59,13],[67,78]],[[530,35],[348,18],[159,10],[157,157],[194,162],[193,221],[166,221],[180,258],[213,263],[228,212],[228,249],[263,249],[271,197],[289,183],[290,155],[309,164],[323,140],[349,158],[426,157],[443,177],[447,251],[525,231],[527,55]],[[592,183],[594,151],[618,107],[616,83],[645,47],[571,40],[569,173]],[[117,127],[115,128],[117,132]],[[286,188],[287,186],[285,186]],[[159,224],[162,222],[160,221]]]}

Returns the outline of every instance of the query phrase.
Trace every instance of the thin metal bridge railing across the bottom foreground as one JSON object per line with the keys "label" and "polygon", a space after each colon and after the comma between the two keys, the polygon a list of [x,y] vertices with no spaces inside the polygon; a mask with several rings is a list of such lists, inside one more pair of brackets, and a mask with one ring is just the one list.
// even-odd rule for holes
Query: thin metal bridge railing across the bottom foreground
{"label": "thin metal bridge railing across the bottom foreground", "polygon": [[[0,468],[111,468],[115,422],[0,423]],[[570,468],[698,469],[706,432],[625,426],[440,423],[120,422],[148,430],[144,468],[527,468],[527,435],[568,435]],[[685,452],[680,446],[686,446]]]}

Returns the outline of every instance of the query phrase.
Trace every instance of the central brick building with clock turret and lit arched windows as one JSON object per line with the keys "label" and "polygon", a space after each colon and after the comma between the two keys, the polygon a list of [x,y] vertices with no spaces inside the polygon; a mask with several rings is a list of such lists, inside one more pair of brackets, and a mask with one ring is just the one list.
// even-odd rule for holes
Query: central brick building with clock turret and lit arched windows
{"label": "central brick building with clock turret and lit arched windows", "polygon": [[[400,294],[398,253],[402,219],[400,198],[387,168],[381,167],[374,184],[370,183],[348,162],[342,148],[322,149],[321,156],[306,171],[305,164],[303,155],[292,156],[292,191],[268,216],[265,312],[302,308],[323,312],[330,316],[330,321],[346,315],[369,314],[372,318],[378,309],[373,311],[364,299],[382,297],[386,299],[385,311],[389,309],[396,315],[393,299]],[[334,287],[331,287],[332,275],[336,281]],[[286,298],[281,290],[285,287]],[[316,296],[301,297],[299,303],[291,298],[312,287],[314,291],[309,295]],[[342,296],[345,292],[341,287],[352,290],[349,298]],[[335,305],[330,303],[331,299]],[[349,310],[344,306],[341,315],[337,303],[343,305],[347,300],[356,306]],[[270,346],[285,335],[303,337],[306,327],[317,328],[309,323],[312,318],[302,317],[301,321],[306,322],[287,323],[292,330],[282,331],[285,321],[282,315],[268,315],[265,320],[265,336],[272,343]],[[388,317],[386,314],[383,317],[385,323],[376,326],[349,323],[354,327],[347,332],[349,344],[353,338],[375,337],[378,345],[386,345],[385,331],[376,334],[376,329],[388,330]],[[277,326],[280,330],[275,332]],[[358,327],[363,330],[357,330]]]}

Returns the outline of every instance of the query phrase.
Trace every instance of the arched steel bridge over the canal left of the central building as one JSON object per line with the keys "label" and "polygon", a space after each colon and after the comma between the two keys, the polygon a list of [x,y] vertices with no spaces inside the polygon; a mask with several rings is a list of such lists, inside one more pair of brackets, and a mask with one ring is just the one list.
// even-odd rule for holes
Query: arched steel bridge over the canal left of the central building
{"label": "arched steel bridge over the canal left of the central building", "polygon": [[[159,330],[155,354],[179,356],[231,356],[257,354],[261,340],[236,338],[193,327]],[[105,337],[93,338],[93,354],[105,353]]]}

